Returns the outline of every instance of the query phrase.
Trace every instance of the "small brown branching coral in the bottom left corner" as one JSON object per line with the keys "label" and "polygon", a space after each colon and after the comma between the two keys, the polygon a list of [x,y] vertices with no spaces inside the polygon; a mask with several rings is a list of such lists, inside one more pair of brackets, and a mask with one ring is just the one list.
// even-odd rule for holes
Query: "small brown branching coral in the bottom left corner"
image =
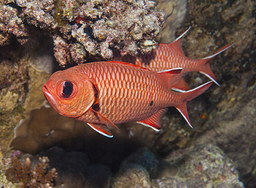
{"label": "small brown branching coral in the bottom left corner", "polygon": [[29,158],[22,164],[13,157],[13,167],[6,170],[5,175],[13,183],[20,182],[19,187],[52,187],[57,172],[55,168],[49,169],[49,162],[48,157],[39,157],[38,164],[32,167]]}

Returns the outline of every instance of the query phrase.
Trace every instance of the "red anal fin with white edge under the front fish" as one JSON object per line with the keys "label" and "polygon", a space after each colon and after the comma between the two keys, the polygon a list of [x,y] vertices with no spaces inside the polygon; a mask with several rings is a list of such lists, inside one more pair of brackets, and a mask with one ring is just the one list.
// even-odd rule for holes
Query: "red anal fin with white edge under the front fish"
{"label": "red anal fin with white edge under the front fish", "polygon": [[146,127],[151,127],[153,130],[159,131],[161,129],[161,118],[167,110],[168,108],[162,108],[150,117],[147,117],[146,119],[141,120],[137,123],[140,123]]}

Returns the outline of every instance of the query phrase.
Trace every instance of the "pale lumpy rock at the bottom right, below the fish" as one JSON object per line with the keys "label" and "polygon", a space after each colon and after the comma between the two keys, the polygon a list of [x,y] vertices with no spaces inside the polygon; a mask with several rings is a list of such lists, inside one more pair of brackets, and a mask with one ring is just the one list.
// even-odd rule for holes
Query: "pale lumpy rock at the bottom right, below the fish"
{"label": "pale lumpy rock at the bottom right, below the fish", "polygon": [[153,180],[153,187],[244,187],[233,161],[215,145],[195,145],[166,157],[170,167]]}

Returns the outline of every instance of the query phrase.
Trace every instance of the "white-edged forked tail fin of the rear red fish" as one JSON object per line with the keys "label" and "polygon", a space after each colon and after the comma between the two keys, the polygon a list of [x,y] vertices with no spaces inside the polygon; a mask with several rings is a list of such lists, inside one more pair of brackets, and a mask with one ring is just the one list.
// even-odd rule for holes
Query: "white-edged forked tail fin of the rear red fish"
{"label": "white-edged forked tail fin of the rear red fish", "polygon": [[202,73],[203,75],[210,78],[214,83],[216,83],[216,85],[220,86],[220,84],[216,81],[216,77],[213,74],[213,71],[211,71],[211,67],[210,67],[210,64],[208,63],[208,61],[211,60],[211,58],[214,58],[216,55],[219,55],[223,51],[228,50],[228,48],[232,47],[234,44],[227,44],[227,45],[223,46],[222,48],[220,48],[219,50],[215,51],[215,53],[213,55],[210,55],[210,56],[207,56],[207,57],[201,59],[200,60],[201,66],[200,66],[200,70],[198,70],[198,71],[200,71],[200,73]]}

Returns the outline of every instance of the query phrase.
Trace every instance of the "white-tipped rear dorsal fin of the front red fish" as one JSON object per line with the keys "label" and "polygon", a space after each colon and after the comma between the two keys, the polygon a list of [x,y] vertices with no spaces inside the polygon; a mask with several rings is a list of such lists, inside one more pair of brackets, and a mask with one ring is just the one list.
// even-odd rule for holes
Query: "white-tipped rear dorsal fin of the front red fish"
{"label": "white-tipped rear dorsal fin of the front red fish", "polygon": [[166,87],[171,90],[173,83],[176,81],[176,76],[178,76],[183,68],[172,68],[169,70],[157,72],[161,79],[164,81]]}

